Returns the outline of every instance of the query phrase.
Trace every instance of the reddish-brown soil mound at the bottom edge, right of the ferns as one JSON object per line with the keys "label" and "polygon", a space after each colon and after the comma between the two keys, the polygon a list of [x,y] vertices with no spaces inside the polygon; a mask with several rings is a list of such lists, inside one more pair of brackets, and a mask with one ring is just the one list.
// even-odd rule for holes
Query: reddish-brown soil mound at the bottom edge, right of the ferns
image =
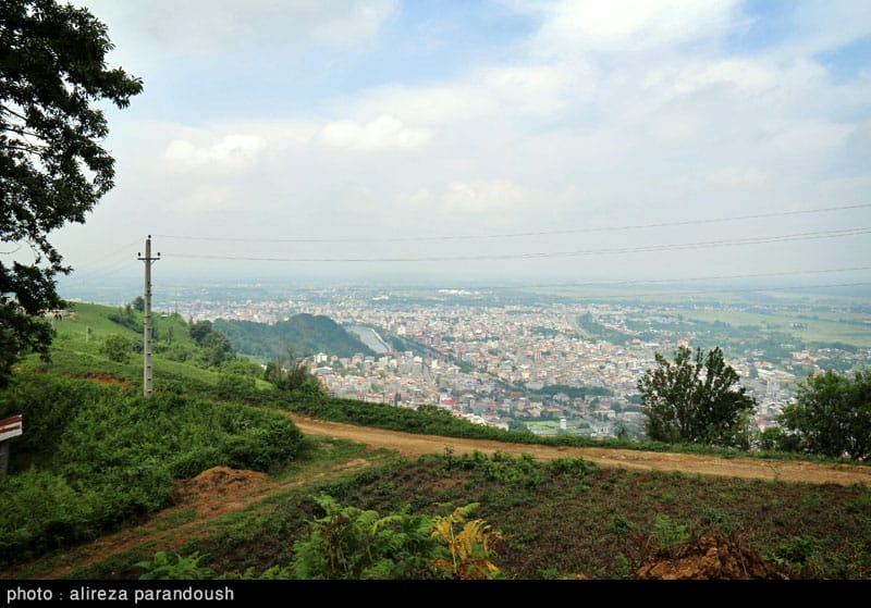
{"label": "reddish-brown soil mound at the bottom edge, right of the ferns", "polygon": [[785,580],[740,539],[702,536],[659,551],[635,573],[640,580],[724,581]]}

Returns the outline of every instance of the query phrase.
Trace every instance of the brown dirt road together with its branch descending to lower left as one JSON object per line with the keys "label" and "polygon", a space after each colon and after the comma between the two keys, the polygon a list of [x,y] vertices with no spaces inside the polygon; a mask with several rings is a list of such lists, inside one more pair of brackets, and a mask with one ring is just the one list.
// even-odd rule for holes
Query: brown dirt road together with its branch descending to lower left
{"label": "brown dirt road together with its branch descending to lower left", "polygon": [[[540,445],[504,444],[500,442],[417,435],[383,431],[336,422],[316,420],[298,414],[287,414],[307,435],[318,435],[366,444],[372,449],[384,448],[396,454],[418,458],[427,454],[456,455],[480,451],[527,454],[537,460],[553,458],[584,458],[602,467],[622,467],[640,471],[680,471],[687,474],[721,475],[744,479],[762,479],[817,484],[864,484],[871,487],[871,467],[846,464],[819,464],[811,462],[764,461],[750,458],[716,458],[712,456],[661,454],[652,451],[606,448],[569,448]],[[368,462],[354,459],[338,466],[339,469],[366,467]],[[323,473],[319,473],[323,474]],[[0,573],[4,578],[58,579],[78,568],[119,555],[135,547],[150,546],[151,550],[173,549],[192,537],[203,534],[209,522],[229,512],[244,509],[265,500],[277,492],[284,492],[304,483],[289,480],[279,483],[262,473],[216,468],[180,486],[181,500],[164,509],[135,529],[108,534],[97,541],[65,553],[59,564],[42,567],[22,566]]]}

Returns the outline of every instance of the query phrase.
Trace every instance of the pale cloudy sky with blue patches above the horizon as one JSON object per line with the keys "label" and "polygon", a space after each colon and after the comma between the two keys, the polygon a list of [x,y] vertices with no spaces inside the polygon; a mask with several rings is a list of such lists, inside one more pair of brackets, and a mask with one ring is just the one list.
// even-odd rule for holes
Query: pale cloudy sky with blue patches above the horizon
{"label": "pale cloudy sky with blue patches above the horizon", "polygon": [[81,0],[140,77],[69,285],[871,285],[871,2]]}

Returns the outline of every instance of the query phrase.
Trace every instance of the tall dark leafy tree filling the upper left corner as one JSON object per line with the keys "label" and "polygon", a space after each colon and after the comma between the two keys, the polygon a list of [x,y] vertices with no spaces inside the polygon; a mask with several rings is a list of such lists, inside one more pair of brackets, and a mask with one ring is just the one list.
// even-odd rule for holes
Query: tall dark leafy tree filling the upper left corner
{"label": "tall dark leafy tree filling the upper left corner", "polygon": [[126,108],[143,84],[107,67],[112,48],[87,9],[0,0],[0,241],[33,258],[0,259],[0,387],[25,352],[48,358],[53,332],[41,314],[66,308],[56,277],[72,269],[49,233],[83,224],[114,186],[98,103]]}

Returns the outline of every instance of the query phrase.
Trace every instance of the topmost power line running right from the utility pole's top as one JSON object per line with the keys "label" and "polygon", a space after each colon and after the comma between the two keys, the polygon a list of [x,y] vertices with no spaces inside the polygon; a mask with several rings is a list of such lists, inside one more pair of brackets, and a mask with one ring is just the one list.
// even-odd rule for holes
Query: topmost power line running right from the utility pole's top
{"label": "topmost power line running right from the utility pole's top", "polygon": [[624,226],[600,226],[587,228],[567,228],[554,231],[535,231],[535,232],[520,232],[520,233],[505,233],[505,234],[489,234],[489,235],[442,235],[442,236],[405,236],[405,237],[388,237],[388,238],[242,238],[242,237],[212,237],[212,236],[186,236],[186,235],[155,235],[160,238],[169,238],[176,240],[218,240],[218,241],[234,241],[234,243],[420,243],[420,241],[439,241],[439,240],[483,240],[483,239],[499,239],[499,238],[520,238],[530,236],[557,236],[571,234],[588,234],[597,232],[622,232],[635,229],[649,229],[649,228],[664,228],[675,226],[694,226],[702,224],[716,224],[724,222],[738,222],[744,220],[763,220],[769,218],[784,218],[788,215],[806,215],[810,213],[829,213],[832,211],[845,211],[850,209],[866,209],[871,207],[871,203],[862,204],[844,204],[839,207],[826,207],[821,209],[803,209],[797,211],[775,211],[771,213],[757,213],[752,215],[735,215],[729,218],[714,218],[708,220],[684,220],[679,222],[659,222],[652,224],[630,224]]}

